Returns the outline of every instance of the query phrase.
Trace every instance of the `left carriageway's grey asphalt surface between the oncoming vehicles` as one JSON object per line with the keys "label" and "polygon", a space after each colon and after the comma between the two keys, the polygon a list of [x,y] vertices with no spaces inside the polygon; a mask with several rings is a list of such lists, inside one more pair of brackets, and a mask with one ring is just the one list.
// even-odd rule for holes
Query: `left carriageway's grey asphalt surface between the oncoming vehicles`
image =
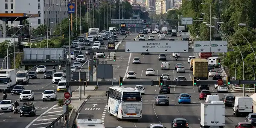
{"label": "left carriageway's grey asphalt surface between the oncoming vehicles", "polygon": [[[118,36],[118,40],[121,41],[124,36]],[[117,44],[118,42],[116,42]],[[104,41],[104,45],[101,46],[102,49],[105,49],[108,44],[108,40]],[[87,49],[86,47],[85,49]],[[71,52],[74,49],[71,49]],[[82,50],[82,53],[85,54],[86,50]],[[108,56],[108,53],[106,53]],[[87,55],[89,58],[90,55]],[[72,60],[72,63],[76,60]],[[61,72],[65,69],[62,67],[61,70],[58,70],[58,66],[56,67],[56,72]],[[51,66],[47,66],[47,70],[52,70]],[[83,70],[88,72],[88,67],[84,66]],[[83,71],[82,70],[82,71]],[[79,72],[79,70],[76,70]],[[95,72],[95,71],[94,71]],[[87,73],[88,74],[88,73]],[[34,117],[20,117],[19,114],[14,114],[12,112],[4,112],[0,113],[0,124],[5,128],[41,128],[46,127],[55,120],[58,116],[63,114],[63,108],[56,106],[57,102],[43,102],[42,101],[42,93],[44,90],[54,89],[56,90],[57,84],[52,84],[52,79],[44,79],[44,74],[38,74],[38,79],[30,79],[29,84],[23,85],[26,90],[32,90],[35,94],[35,103],[36,107],[36,116]],[[76,90],[78,87],[71,87],[72,90]],[[57,99],[62,99],[63,93],[57,93]],[[20,107],[23,102],[19,101],[19,96],[8,94],[7,99],[12,100],[13,102],[17,100],[20,103]],[[15,122],[15,123],[14,123]]]}

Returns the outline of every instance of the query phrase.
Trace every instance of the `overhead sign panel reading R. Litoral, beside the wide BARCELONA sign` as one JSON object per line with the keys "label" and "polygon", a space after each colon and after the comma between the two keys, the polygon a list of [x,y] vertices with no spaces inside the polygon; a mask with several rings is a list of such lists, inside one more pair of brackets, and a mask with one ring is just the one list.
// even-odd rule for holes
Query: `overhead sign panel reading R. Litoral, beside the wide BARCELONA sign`
{"label": "overhead sign panel reading R. Litoral, beside the wide BARCELONA sign", "polygon": [[210,52],[210,41],[194,41],[194,52]]}

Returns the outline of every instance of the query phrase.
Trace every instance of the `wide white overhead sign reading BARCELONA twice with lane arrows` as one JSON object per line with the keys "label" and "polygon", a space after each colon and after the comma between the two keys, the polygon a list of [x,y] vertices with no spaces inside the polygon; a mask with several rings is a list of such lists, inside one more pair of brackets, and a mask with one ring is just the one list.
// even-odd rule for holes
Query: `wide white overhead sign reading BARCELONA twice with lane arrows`
{"label": "wide white overhead sign reading BARCELONA twice with lane arrows", "polygon": [[188,49],[188,41],[125,41],[125,52],[188,52]]}

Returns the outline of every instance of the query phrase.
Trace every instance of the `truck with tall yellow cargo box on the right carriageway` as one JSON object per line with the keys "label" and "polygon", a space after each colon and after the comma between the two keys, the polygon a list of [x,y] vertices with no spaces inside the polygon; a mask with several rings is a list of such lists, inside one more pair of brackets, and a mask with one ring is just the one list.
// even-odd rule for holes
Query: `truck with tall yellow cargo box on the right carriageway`
{"label": "truck with tall yellow cargo box on the right carriageway", "polygon": [[[198,80],[208,79],[208,61],[205,58],[195,58],[193,60],[193,76]],[[192,63],[191,60],[191,63]]]}

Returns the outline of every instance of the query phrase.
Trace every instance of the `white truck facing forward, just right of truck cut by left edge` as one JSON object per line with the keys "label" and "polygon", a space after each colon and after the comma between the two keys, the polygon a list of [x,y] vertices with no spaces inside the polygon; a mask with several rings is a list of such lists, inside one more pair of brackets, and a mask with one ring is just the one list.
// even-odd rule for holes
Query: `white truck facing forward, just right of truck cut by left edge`
{"label": "white truck facing forward, just right of truck cut by left edge", "polygon": [[16,73],[16,84],[29,84],[29,72],[20,70]]}

